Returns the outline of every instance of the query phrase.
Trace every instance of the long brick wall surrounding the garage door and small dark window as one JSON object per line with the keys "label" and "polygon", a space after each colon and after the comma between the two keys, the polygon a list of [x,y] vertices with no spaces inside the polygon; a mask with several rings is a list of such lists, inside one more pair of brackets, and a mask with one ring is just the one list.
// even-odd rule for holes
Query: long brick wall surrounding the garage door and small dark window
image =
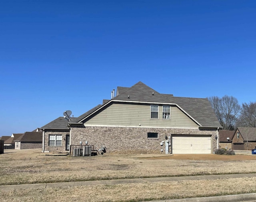
{"label": "long brick wall surrounding the garage door and small dark window", "polygon": [[[148,133],[158,133],[158,139],[148,139]],[[72,127],[71,145],[88,141],[88,145],[94,145],[97,150],[104,145],[108,154],[165,154],[165,148],[160,143],[165,140],[165,136],[171,135],[212,135],[212,152],[217,148],[214,138],[216,130],[130,127]]]}

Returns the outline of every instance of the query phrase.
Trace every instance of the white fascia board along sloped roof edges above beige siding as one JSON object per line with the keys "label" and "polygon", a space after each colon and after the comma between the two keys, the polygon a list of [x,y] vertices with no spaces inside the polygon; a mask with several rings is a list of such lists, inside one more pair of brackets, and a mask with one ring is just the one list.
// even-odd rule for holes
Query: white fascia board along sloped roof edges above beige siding
{"label": "white fascia board along sloped roof edges above beige siding", "polygon": [[[190,119],[192,119],[195,123],[197,123],[199,126],[202,126],[198,121],[196,121],[196,119],[194,119],[193,117],[191,117],[184,109],[182,109],[182,107],[180,107],[178,104],[176,103],[159,103],[159,102],[140,102],[140,101],[124,101],[124,100],[110,100],[108,101],[105,105],[107,105],[110,102],[122,102],[122,103],[142,103],[142,104],[158,104],[158,105],[176,105],[181,111],[183,111],[188,117],[190,117]],[[97,111],[99,111],[100,109],[102,109],[102,107],[104,107],[105,105],[102,105],[99,109],[97,109],[96,111],[94,111],[93,113],[91,113],[90,115],[96,113]],[[87,117],[90,117],[90,115],[88,115]],[[84,119],[86,119],[87,117],[85,117]],[[81,123],[82,121],[84,121],[84,119],[82,119],[81,121],[79,121],[78,123]]]}

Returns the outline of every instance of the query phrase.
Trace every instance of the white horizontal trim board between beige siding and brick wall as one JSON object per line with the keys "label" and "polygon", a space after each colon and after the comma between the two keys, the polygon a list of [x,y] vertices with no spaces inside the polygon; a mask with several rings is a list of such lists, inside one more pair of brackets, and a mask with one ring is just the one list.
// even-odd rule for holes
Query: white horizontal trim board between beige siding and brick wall
{"label": "white horizontal trim board between beige siding and brick wall", "polygon": [[116,127],[116,128],[154,128],[154,129],[196,129],[198,127],[138,126],[138,125],[97,125],[84,124],[85,127]]}

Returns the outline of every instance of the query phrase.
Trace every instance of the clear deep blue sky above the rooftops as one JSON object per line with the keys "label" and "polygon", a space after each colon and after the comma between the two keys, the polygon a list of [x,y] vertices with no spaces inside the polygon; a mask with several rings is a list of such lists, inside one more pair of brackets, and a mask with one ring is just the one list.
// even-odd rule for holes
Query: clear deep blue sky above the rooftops
{"label": "clear deep blue sky above the rooftops", "polygon": [[74,117],[142,81],[256,101],[256,1],[0,2],[0,137]]}

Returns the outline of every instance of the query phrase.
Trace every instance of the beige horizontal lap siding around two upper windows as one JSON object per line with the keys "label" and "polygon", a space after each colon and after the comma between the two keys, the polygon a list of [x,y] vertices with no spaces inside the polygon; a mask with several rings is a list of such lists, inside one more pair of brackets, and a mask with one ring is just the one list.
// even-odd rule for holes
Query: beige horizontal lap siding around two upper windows
{"label": "beige horizontal lap siding around two upper windows", "polygon": [[114,103],[86,121],[85,125],[121,125],[156,127],[197,127],[198,125],[178,107],[171,106],[170,119],[162,119],[162,106],[158,119],[150,119],[150,105]]}

